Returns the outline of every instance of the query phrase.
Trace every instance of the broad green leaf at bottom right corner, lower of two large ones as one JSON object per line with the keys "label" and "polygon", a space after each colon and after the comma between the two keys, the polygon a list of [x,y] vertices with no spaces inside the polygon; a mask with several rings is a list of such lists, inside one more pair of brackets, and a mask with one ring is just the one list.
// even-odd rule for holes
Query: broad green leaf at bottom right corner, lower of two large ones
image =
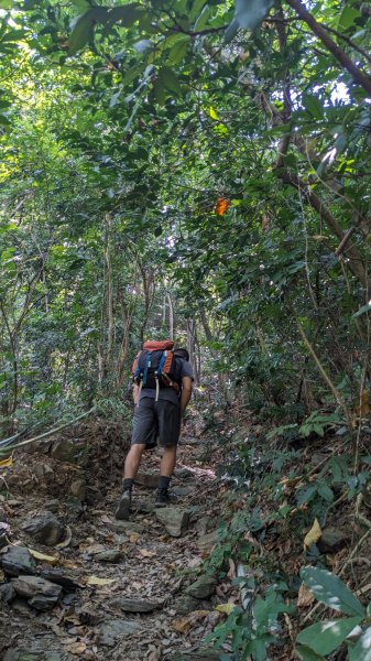
{"label": "broad green leaf at bottom right corner, lower of two large ones", "polygon": [[361,619],[362,617],[358,616],[317,622],[301,631],[296,640],[310,648],[317,654],[326,655],[336,650],[346,640]]}

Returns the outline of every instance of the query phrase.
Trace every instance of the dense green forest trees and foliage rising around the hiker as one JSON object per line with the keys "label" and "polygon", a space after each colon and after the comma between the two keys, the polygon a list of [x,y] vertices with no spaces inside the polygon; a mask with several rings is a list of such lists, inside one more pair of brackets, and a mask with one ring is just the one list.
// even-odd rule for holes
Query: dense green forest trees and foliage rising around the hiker
{"label": "dense green forest trees and foliage rising around the hiker", "polygon": [[273,436],[342,425],[346,484],[369,413],[369,3],[0,8],[3,434],[121,414],[138,344],[170,334]]}

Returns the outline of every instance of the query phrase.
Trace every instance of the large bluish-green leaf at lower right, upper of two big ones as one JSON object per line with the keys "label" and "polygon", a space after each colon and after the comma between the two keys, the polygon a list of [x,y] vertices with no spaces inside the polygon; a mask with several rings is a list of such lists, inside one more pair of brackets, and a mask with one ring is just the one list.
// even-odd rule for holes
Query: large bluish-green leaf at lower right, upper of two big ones
{"label": "large bluish-green leaf at lower right, upper of two big ones", "polygon": [[364,617],[365,610],[362,604],[354,597],[349,587],[331,572],[319,567],[303,567],[301,576],[321,604],[347,615]]}

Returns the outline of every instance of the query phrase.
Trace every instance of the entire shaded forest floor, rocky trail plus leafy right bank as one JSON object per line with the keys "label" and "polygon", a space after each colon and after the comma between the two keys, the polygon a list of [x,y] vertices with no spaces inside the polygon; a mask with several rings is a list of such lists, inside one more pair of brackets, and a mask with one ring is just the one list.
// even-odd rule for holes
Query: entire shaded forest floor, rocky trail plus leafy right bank
{"label": "entire shaded forest floor, rocky trail plus leafy right bank", "polygon": [[[15,454],[0,491],[1,660],[217,661],[204,639],[227,604],[241,604],[241,567],[257,597],[284,584],[280,595],[296,607],[282,618],[274,661],[296,659],[303,620],[328,615],[301,586],[302,566],[341,574],[370,598],[369,505],[364,497],[362,523],[353,478],[339,469],[349,443],[334,433],[268,442],[248,414],[209,420],[195,412],[183,433],[171,508],[154,508],[161,451],[144,455],[124,522],[113,512],[130,431],[96,420]],[[362,454],[370,446],[365,434]],[[221,651],[240,659],[228,636]]]}

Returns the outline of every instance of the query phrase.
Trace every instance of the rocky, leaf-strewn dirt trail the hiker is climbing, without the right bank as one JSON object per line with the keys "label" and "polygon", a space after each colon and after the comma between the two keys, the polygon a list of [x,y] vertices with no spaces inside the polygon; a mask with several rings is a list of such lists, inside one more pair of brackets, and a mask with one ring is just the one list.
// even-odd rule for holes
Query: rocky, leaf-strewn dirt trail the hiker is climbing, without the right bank
{"label": "rocky, leaf-strewn dirt trail the hiker is climbing, without the right bank", "polygon": [[[218,659],[216,652],[197,651],[222,617],[215,606],[227,602],[223,590],[231,589],[227,584],[217,586],[200,570],[212,548],[220,510],[214,469],[205,462],[205,441],[185,437],[179,447],[172,481],[177,501],[172,508],[153,508],[160,451],[148,453],[130,521],[113,518],[120,490],[109,483],[109,459],[103,457],[100,454],[99,462],[106,484],[87,479],[88,467],[62,463],[50,454],[18,455],[8,469],[9,490],[0,507],[11,545],[3,546],[0,556],[4,599],[0,658]],[[50,520],[43,528],[40,518],[45,517]],[[62,542],[45,544],[53,535],[58,539],[61,524]],[[28,552],[15,557],[19,548],[50,560],[41,557],[34,564],[24,556]],[[33,570],[28,568],[31,565]],[[64,585],[59,595],[57,584]]]}

